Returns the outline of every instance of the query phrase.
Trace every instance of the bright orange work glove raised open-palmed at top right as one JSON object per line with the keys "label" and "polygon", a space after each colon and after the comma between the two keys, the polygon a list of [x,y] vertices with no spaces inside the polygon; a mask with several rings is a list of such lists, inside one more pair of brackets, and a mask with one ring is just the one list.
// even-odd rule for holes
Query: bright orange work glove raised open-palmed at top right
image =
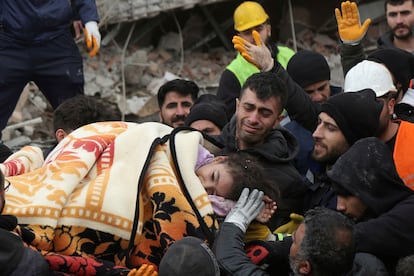
{"label": "bright orange work glove raised open-palmed at top right", "polygon": [[335,17],[342,42],[351,45],[359,44],[371,24],[371,19],[366,19],[361,26],[359,11],[355,2],[342,2],[341,9],[342,15],[338,8],[335,9]]}

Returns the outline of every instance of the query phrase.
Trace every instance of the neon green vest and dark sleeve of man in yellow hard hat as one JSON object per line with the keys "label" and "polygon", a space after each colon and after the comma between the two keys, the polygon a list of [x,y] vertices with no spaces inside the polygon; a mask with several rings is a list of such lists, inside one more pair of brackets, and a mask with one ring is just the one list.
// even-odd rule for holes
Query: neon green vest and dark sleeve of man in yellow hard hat
{"label": "neon green vest and dark sleeve of man in yellow hard hat", "polygon": [[[293,50],[285,46],[276,46],[268,44],[275,57],[286,68],[289,59],[295,54]],[[217,89],[217,97],[226,105],[227,118],[233,116],[236,111],[236,98],[240,96],[241,88],[248,77],[260,70],[244,59],[239,53],[236,58],[223,71],[219,87]]]}

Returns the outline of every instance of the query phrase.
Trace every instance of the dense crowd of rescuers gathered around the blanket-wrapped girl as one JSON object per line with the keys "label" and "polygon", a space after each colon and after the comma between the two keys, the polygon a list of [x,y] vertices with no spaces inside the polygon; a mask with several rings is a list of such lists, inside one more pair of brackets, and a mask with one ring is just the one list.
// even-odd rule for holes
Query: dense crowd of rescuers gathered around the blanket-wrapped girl
{"label": "dense crowd of rescuers gathered around the blanket-wrapped girl", "polygon": [[[84,133],[90,134],[85,136],[88,139],[93,137],[108,146],[102,152],[115,163],[121,156],[113,153],[115,139],[135,124],[111,125],[110,122],[121,121],[117,107],[95,97],[78,95],[83,91],[78,53],[69,55],[75,59],[69,61],[61,48],[52,48],[60,47],[54,46],[59,41],[68,40],[69,23],[80,17],[88,47],[94,48],[92,55],[96,54],[100,34],[94,1],[72,1],[76,14],[67,10],[67,1],[39,4],[40,9],[28,2],[0,3],[0,46],[4,46],[0,47],[0,57],[10,60],[0,65],[0,90],[6,93],[4,101],[0,101],[5,107],[0,128],[5,127],[13,111],[23,88],[20,84],[33,80],[39,82],[55,108],[56,145],[40,153],[37,167],[45,172],[54,158],[69,158],[59,156],[65,153],[62,143],[80,143],[76,139]],[[217,95],[199,95],[197,84],[186,79],[168,81],[159,88],[157,128],[162,136],[149,144],[148,155],[143,153],[142,168],[153,168],[152,156],[159,158],[156,152],[167,152],[167,159],[174,164],[168,177],[180,183],[176,186],[183,190],[183,196],[167,202],[168,189],[148,193],[154,198],[137,196],[136,216],[144,212],[137,207],[143,204],[141,200],[157,204],[157,208],[161,203],[168,205],[165,210],[154,206],[145,209],[154,212],[157,219],[174,222],[174,213],[180,211],[187,215],[194,211],[195,219],[192,221],[189,215],[179,239],[174,238],[176,233],[161,231],[158,247],[151,248],[154,255],[146,256],[134,243],[141,239],[135,236],[138,229],[144,228],[148,239],[157,236],[160,229],[168,229],[153,221],[144,225],[134,222],[129,241],[119,238],[117,242],[114,236],[115,242],[111,244],[99,244],[100,240],[109,240],[108,233],[94,229],[96,236],[102,235],[97,238],[96,247],[105,247],[105,254],[112,252],[110,248],[127,248],[123,255],[97,257],[90,248],[79,245],[76,254],[64,256],[56,250],[57,246],[40,246],[34,234],[39,229],[20,223],[19,217],[7,212],[8,197],[12,204],[18,204],[15,196],[23,191],[20,186],[25,179],[18,177],[33,173],[34,159],[23,159],[19,152],[2,149],[0,274],[412,275],[414,1],[386,0],[384,7],[390,31],[378,40],[378,50],[369,54],[364,53],[361,41],[371,20],[360,21],[355,2],[342,2],[335,10],[342,42],[343,87],[330,84],[330,68],[320,53],[294,53],[272,43],[269,15],[258,2],[245,1],[234,11],[236,35],[232,42],[237,56],[223,71]],[[19,13],[28,8],[31,14]],[[53,16],[39,25],[40,21],[32,20],[42,10]],[[16,12],[27,17],[27,21],[17,24],[13,20],[17,18]],[[30,36],[24,35],[29,33]],[[73,48],[71,43],[66,46]],[[26,51],[33,53],[23,54]],[[45,51],[53,51],[57,60],[42,60],[39,64],[44,70],[28,67],[33,58],[41,60]],[[76,70],[78,73],[74,73]],[[48,82],[51,78],[53,82]],[[59,87],[65,84],[64,90],[58,90],[59,95],[52,93],[57,91],[55,81]],[[170,134],[164,136],[166,132]],[[199,136],[186,136],[186,145],[195,147],[182,151],[180,139],[186,133]],[[124,140],[137,147],[131,142],[133,139]],[[200,142],[194,144],[193,140]],[[163,150],[156,148],[160,145]],[[92,152],[86,146],[82,150]],[[179,153],[185,153],[185,158],[177,158]],[[71,156],[74,155],[72,152]],[[123,152],[125,155],[128,153]],[[78,187],[86,186],[96,176],[94,170],[104,167],[100,161],[95,163],[100,167],[93,167],[92,173],[80,178]],[[150,179],[150,174],[142,173],[139,183],[150,183],[143,180]],[[48,176],[45,173],[45,181]],[[165,179],[157,181],[169,181]],[[188,179],[192,182],[184,183]],[[61,181],[64,180],[62,177]],[[128,182],[127,177],[124,181]],[[112,185],[114,180],[105,183]],[[154,188],[151,185],[155,185],[151,183],[141,189],[150,191]],[[200,190],[194,196],[189,186],[196,183]],[[49,185],[47,189],[52,188]],[[27,196],[28,192],[25,193]],[[204,194],[211,214],[200,203]],[[78,192],[71,200],[76,201],[80,195]],[[83,225],[64,225],[71,226]],[[77,234],[80,233],[74,235]],[[132,252],[138,252],[136,256],[145,261],[132,265],[134,262],[128,258]],[[71,266],[75,263],[83,263],[86,268],[75,269]]]}

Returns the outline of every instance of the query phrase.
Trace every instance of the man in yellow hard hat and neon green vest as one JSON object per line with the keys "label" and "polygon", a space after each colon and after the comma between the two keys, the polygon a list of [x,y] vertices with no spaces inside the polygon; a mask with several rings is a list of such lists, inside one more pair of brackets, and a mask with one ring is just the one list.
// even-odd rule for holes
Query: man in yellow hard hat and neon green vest
{"label": "man in yellow hard hat and neon green vest", "polygon": [[[276,45],[269,41],[272,34],[270,18],[259,3],[253,1],[241,3],[234,11],[233,19],[234,29],[237,32],[237,35],[233,38],[233,43],[238,39],[245,39],[250,43],[266,45],[272,56],[286,68],[289,59],[295,52],[288,47]],[[239,97],[244,82],[253,73],[259,71],[240,53],[223,71],[217,96],[226,104],[226,114],[229,120],[235,112],[235,100]]]}

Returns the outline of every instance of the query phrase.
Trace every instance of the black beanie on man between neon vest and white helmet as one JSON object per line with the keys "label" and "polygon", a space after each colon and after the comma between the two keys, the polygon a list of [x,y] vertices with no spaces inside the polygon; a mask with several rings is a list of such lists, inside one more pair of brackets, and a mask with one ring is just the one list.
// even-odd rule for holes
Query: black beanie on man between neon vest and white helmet
{"label": "black beanie on man between neon vest and white helmet", "polygon": [[289,60],[286,70],[302,88],[331,79],[331,69],[325,57],[309,50],[301,50],[294,54]]}

